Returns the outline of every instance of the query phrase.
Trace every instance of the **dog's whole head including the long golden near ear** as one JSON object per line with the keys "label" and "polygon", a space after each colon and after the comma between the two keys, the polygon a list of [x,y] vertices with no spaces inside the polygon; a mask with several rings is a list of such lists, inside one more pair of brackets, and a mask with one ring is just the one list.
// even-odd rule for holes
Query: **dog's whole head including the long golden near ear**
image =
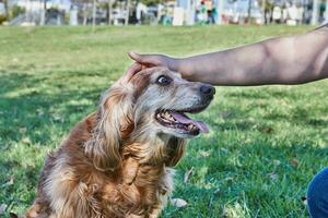
{"label": "dog's whole head including the long golden near ear", "polygon": [[86,146],[98,168],[115,168],[121,146],[129,140],[163,138],[178,143],[208,132],[207,125],[186,113],[206,109],[215,89],[188,82],[164,68],[145,69],[129,81],[119,80],[102,97],[93,138]]}

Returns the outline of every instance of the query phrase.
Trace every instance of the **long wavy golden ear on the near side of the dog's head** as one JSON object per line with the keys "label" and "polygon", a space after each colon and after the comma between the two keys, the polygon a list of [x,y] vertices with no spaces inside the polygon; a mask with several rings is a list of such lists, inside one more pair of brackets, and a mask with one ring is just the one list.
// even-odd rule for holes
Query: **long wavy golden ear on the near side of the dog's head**
{"label": "long wavy golden ear on the near side of the dog's head", "polygon": [[114,170],[121,164],[121,144],[133,130],[133,95],[129,84],[114,84],[102,97],[96,125],[85,153],[98,170]]}

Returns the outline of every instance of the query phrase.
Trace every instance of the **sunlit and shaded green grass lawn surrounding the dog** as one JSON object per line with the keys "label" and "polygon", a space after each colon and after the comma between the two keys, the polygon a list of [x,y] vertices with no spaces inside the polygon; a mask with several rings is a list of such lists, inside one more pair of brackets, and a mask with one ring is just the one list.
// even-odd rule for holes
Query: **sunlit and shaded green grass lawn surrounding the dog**
{"label": "sunlit and shaded green grass lawn surrounding the dog", "polygon": [[[129,50],[214,51],[309,27],[0,28],[0,204],[31,205],[43,160],[131,63]],[[281,51],[283,52],[283,51]],[[251,56],[251,53],[249,53]],[[218,87],[198,118],[162,217],[307,217],[302,196],[328,164],[328,86]],[[194,167],[187,184],[184,173]]]}

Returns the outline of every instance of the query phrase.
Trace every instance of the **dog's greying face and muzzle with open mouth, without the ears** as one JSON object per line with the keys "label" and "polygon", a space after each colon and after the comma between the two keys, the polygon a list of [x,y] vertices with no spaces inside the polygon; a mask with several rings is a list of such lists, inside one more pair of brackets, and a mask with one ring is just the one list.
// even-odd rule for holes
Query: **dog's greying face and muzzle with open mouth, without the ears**
{"label": "dog's greying face and muzzle with open mouth, without the ears", "polygon": [[203,122],[195,121],[186,113],[197,113],[209,106],[215,93],[211,85],[188,82],[164,68],[144,70],[134,75],[131,83],[136,87],[137,126],[179,138],[208,132]]}

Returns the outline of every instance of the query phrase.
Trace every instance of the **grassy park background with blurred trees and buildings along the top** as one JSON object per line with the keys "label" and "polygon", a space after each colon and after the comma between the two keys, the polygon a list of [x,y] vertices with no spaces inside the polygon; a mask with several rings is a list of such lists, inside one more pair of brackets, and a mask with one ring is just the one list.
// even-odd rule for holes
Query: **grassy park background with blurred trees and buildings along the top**
{"label": "grassy park background with blurred trees and buildings along the top", "polygon": [[[32,204],[46,154],[95,110],[128,51],[216,51],[306,33],[326,15],[316,0],[1,0],[0,217]],[[307,185],[328,164],[327,92],[326,81],[216,87],[195,116],[211,132],[176,168],[173,198],[187,204],[162,217],[308,217]]]}

